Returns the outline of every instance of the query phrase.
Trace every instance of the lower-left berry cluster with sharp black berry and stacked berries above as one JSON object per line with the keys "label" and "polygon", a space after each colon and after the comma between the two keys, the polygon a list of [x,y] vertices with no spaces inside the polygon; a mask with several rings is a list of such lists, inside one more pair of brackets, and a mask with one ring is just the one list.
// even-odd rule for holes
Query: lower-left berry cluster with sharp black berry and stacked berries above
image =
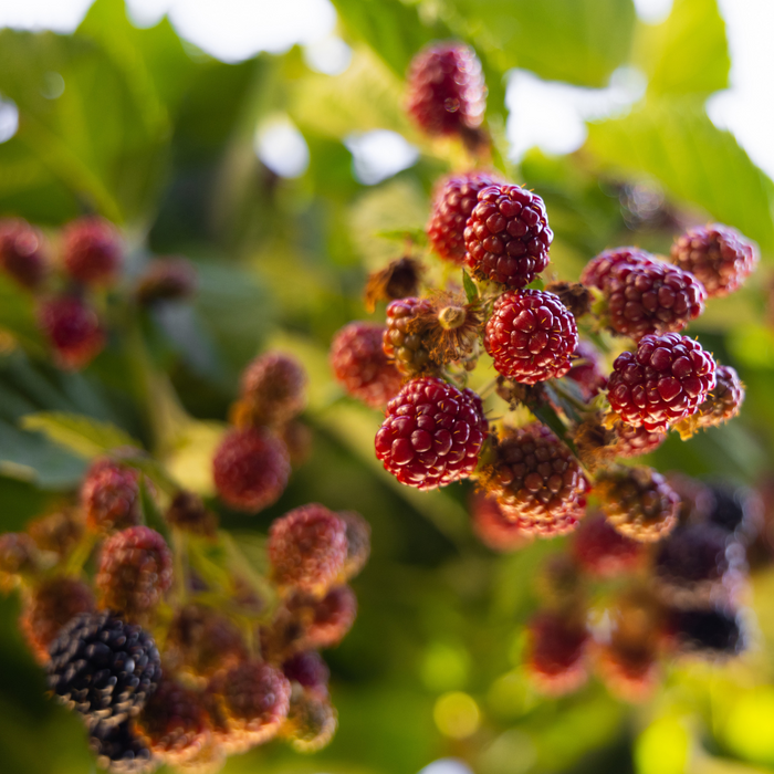
{"label": "lower-left berry cluster with sharp black berry and stacked berries above", "polygon": [[[228,504],[255,511],[282,492],[282,433],[305,378],[276,353],[244,372],[237,429],[213,461]],[[96,459],[77,502],[0,536],[0,587],[21,590],[20,628],[52,694],[116,774],[217,772],[274,738],[324,746],[337,715],[318,650],[354,623],[347,583],[368,558],[368,523],[297,508],[272,523],[265,562],[252,564],[200,496],[151,481],[144,462],[137,449]]]}

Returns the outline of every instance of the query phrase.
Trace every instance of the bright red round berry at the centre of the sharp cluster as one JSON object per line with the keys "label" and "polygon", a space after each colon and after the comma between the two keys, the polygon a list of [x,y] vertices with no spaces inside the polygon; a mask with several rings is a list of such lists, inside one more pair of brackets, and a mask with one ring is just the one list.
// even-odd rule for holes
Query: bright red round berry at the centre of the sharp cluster
{"label": "bright red round berry at the centre of the sharp cluster", "polygon": [[564,376],[577,345],[575,317],[553,293],[503,293],[487,322],[484,346],[495,370],[522,384]]}

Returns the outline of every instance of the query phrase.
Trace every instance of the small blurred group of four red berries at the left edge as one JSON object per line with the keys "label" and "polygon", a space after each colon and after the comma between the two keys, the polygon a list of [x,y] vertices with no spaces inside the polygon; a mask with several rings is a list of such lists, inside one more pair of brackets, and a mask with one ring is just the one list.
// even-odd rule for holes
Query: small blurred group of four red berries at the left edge
{"label": "small blurred group of four red berries at the left edge", "polygon": [[123,264],[121,234],[103,218],[73,220],[51,239],[24,220],[0,220],[0,269],[34,294],[38,325],[60,368],[84,368],[104,348],[102,294],[126,292],[148,305],[187,297],[196,287],[194,268],[182,258],[151,261],[127,287]]}

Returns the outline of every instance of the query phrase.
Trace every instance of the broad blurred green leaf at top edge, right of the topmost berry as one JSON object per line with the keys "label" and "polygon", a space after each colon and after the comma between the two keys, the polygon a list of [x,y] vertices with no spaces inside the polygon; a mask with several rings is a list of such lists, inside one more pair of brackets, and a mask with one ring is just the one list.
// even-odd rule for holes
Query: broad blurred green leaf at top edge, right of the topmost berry
{"label": "broad blurred green leaf at top edge, right of the topmost berry", "polygon": [[471,36],[492,65],[543,79],[605,86],[629,57],[631,0],[449,0],[444,15]]}

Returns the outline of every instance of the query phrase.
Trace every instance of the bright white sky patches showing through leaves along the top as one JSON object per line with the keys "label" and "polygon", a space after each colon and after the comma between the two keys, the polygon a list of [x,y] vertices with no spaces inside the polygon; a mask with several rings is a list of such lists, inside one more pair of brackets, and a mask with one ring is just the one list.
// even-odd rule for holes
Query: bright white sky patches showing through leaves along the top
{"label": "bright white sky patches showing through leaves along the top", "polygon": [[[672,0],[635,0],[648,22],[663,20]],[[728,24],[733,69],[731,88],[708,105],[712,121],[731,129],[753,160],[774,177],[774,0],[719,0]],[[0,0],[0,27],[75,29],[91,0]],[[349,51],[335,35],[336,13],[330,0],[128,0],[139,25],[151,25],[165,13],[179,34],[213,56],[237,62],[259,51],[280,53],[294,43],[305,46],[306,61],[321,72],[346,69]],[[641,93],[637,73],[617,72],[606,90],[582,90],[545,83],[516,71],[508,103],[515,107],[509,125],[512,156],[534,145],[567,153],[585,138],[584,119],[625,108]],[[255,149],[275,171],[303,172],[307,149],[303,137],[282,117],[259,127]],[[13,115],[0,105],[0,142],[14,129]],[[283,134],[284,133],[284,134]],[[388,132],[348,138],[355,171],[374,184],[410,166],[416,155],[402,138]]]}

